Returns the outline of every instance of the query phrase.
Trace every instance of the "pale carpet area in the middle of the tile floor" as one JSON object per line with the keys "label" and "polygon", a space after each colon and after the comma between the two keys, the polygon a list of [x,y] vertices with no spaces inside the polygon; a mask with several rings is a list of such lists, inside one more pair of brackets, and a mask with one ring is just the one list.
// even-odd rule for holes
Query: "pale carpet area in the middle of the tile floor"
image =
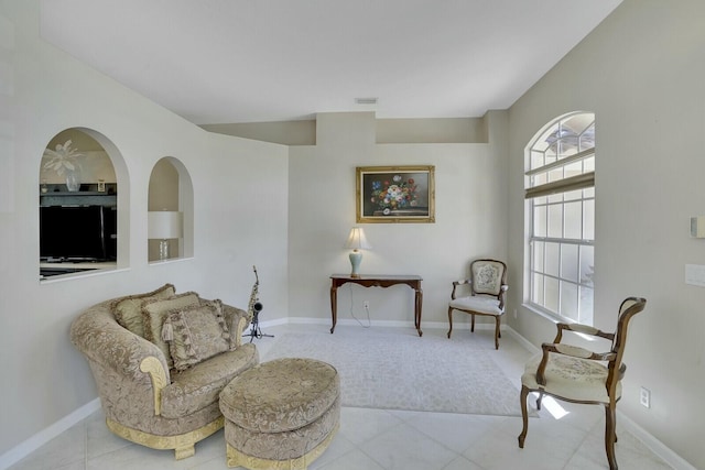
{"label": "pale carpet area in the middle of the tile floor", "polygon": [[288,332],[262,360],[301,357],[333,364],[343,406],[521,416],[519,390],[492,360],[497,352],[477,345],[467,337],[420,338],[413,330]]}

